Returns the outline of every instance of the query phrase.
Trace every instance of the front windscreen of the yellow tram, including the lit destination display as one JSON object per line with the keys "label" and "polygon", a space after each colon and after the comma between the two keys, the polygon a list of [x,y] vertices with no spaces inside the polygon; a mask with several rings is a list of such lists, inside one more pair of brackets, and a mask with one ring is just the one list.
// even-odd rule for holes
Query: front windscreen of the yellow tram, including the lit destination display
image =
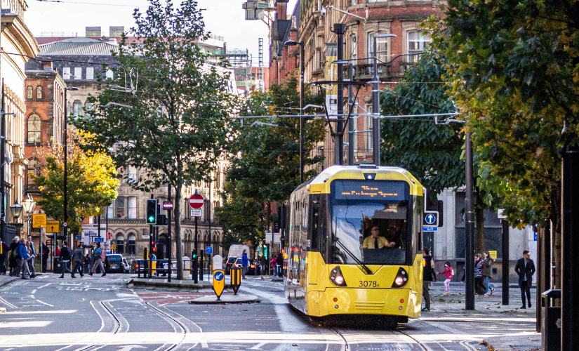
{"label": "front windscreen of the yellow tram, including the lit destination display", "polygon": [[399,180],[332,182],[333,262],[399,265],[408,244],[408,183]]}

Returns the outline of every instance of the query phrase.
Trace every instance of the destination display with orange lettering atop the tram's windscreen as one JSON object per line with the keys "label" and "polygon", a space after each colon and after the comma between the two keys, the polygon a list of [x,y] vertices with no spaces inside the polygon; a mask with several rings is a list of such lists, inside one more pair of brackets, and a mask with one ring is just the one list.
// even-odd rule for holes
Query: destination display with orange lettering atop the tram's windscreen
{"label": "destination display with orange lettering atop the tram's windscreen", "polygon": [[393,201],[406,200],[405,182],[392,180],[335,180],[335,199],[365,200],[385,199]]}

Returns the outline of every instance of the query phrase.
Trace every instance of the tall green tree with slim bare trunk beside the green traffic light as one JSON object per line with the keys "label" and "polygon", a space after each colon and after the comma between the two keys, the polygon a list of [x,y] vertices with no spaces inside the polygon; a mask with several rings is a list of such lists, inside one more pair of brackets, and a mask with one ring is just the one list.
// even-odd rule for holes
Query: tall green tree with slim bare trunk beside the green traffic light
{"label": "tall green tree with slim bare trunk beside the green traffic light", "polygon": [[236,99],[227,90],[228,74],[206,65],[197,46],[208,38],[197,1],[149,2],[146,13],[135,10],[129,31],[135,41],[122,38],[114,80],[103,81],[91,118],[75,123],[94,133],[99,147],[114,147],[119,166],[141,170],[136,189],[175,190],[173,237],[182,279],[183,186],[211,180],[232,143],[228,120]]}

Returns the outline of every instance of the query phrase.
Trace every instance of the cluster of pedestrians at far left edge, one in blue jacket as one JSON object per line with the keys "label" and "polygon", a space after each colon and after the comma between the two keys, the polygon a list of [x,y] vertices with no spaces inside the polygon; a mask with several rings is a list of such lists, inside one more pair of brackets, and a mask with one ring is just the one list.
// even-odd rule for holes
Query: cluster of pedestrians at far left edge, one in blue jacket
{"label": "cluster of pedestrians at far left edge, one in blue jacket", "polygon": [[[34,269],[36,256],[32,237],[28,237],[28,240],[24,237],[14,237],[10,246],[0,240],[0,274],[6,275],[8,272],[11,277],[20,275],[22,279],[34,278],[36,277]],[[9,271],[6,269],[6,261],[8,261]]]}

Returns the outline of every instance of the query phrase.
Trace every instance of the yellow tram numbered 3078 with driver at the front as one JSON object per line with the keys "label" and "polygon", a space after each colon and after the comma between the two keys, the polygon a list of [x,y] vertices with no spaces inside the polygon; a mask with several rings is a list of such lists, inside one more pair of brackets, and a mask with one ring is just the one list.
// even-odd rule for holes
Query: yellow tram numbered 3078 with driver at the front
{"label": "yellow tram numbered 3078 with driver at the front", "polygon": [[293,307],[312,317],[420,317],[423,188],[411,173],[331,166],[288,207],[284,287]]}

